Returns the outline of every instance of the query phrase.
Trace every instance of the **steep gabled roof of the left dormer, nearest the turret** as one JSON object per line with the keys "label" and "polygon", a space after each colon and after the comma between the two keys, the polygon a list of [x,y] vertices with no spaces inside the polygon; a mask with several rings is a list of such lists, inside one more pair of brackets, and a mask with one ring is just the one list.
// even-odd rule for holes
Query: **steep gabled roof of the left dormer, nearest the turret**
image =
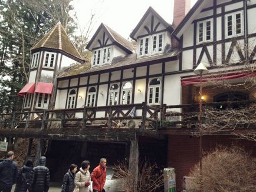
{"label": "steep gabled roof of the left dormer, nearest the turret", "polygon": [[93,44],[93,42],[95,41],[97,35],[101,30],[106,32],[106,34],[110,37],[110,40],[113,42],[113,44],[117,45],[118,47],[126,51],[127,54],[131,54],[133,52],[134,47],[131,42],[127,41],[127,39],[123,38],[121,35],[117,34],[116,31],[114,31],[110,27],[107,27],[107,25],[103,23],[100,24],[100,27],[97,29],[97,31],[93,35],[90,42],[88,42],[88,45],[86,46],[88,50],[91,51],[93,49],[91,47],[91,44]]}

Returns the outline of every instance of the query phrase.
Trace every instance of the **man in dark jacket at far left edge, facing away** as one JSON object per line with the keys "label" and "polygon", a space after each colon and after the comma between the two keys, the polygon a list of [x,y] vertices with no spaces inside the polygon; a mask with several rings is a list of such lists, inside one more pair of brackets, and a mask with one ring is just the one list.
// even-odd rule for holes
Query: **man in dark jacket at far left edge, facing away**
{"label": "man in dark jacket at far left edge, facing away", "polygon": [[6,160],[0,163],[0,192],[11,192],[18,173],[18,164],[14,161],[14,152],[9,151],[6,157]]}

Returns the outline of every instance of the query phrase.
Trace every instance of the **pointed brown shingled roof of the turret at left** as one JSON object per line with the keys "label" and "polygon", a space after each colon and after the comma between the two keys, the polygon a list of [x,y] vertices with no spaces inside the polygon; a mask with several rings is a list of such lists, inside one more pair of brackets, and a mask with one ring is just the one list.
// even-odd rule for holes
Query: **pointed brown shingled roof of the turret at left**
{"label": "pointed brown shingled roof of the turret at left", "polygon": [[31,51],[38,48],[58,49],[76,58],[82,59],[60,22],[58,22],[58,24],[56,24],[34,47],[32,47]]}

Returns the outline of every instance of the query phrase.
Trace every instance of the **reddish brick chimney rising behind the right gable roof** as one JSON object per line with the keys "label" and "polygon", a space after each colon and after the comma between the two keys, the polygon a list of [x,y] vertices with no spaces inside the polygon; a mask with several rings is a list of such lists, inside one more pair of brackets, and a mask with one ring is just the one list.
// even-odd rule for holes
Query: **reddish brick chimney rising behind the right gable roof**
{"label": "reddish brick chimney rising behind the right gable roof", "polygon": [[177,27],[191,9],[191,0],[174,0],[173,27]]}

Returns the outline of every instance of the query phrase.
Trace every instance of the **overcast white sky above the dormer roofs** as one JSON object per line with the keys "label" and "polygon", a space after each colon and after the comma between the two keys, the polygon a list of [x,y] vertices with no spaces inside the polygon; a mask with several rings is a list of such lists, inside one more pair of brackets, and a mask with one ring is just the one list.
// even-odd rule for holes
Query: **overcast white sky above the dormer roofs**
{"label": "overcast white sky above the dormer roofs", "polygon": [[[196,0],[191,2],[193,5]],[[172,24],[173,19],[173,0],[74,0],[73,5],[83,27],[88,25],[91,13],[95,14],[96,22],[91,36],[103,22],[124,38],[128,38],[149,6],[169,24]]]}

